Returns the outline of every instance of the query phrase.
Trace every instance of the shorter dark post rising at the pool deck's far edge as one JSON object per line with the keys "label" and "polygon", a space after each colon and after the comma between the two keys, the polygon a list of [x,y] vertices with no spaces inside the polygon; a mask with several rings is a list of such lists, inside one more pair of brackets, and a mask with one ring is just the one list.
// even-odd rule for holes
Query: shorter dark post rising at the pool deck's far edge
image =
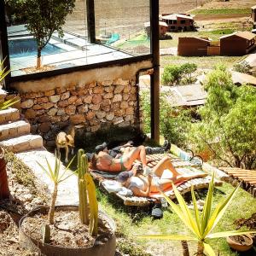
{"label": "shorter dark post rising at the pool deck's far edge", "polygon": [[96,42],[94,0],[86,0],[86,13],[88,42],[94,44]]}

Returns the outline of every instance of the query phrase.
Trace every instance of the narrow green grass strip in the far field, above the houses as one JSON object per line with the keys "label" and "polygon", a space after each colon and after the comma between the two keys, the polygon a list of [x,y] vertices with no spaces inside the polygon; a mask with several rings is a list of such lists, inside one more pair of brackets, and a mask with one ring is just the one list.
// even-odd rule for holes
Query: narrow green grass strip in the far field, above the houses
{"label": "narrow green grass strip in the far field, above the houses", "polygon": [[191,11],[193,15],[250,15],[251,9],[195,9]]}

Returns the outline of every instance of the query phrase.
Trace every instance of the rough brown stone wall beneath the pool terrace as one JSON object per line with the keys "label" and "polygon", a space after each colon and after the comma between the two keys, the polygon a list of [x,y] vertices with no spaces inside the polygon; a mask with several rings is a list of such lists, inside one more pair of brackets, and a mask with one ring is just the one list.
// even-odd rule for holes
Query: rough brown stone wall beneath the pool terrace
{"label": "rough brown stone wall beneath the pool terrace", "polygon": [[32,124],[32,133],[55,145],[55,134],[67,124],[95,132],[110,125],[137,125],[137,85],[115,79],[67,88],[20,93],[20,108]]}

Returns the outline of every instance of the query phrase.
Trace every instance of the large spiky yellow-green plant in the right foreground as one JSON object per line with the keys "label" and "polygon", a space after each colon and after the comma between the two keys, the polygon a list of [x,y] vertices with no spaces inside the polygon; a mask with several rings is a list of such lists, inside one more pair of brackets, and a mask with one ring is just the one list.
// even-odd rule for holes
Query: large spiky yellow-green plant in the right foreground
{"label": "large spiky yellow-green plant in the right foreground", "polygon": [[175,204],[172,200],[170,200],[164,193],[162,195],[166,198],[166,201],[172,207],[172,211],[177,213],[177,216],[183,221],[183,224],[191,231],[191,235],[188,236],[175,236],[175,235],[153,235],[153,236],[137,236],[141,238],[154,238],[154,239],[163,239],[163,240],[177,240],[177,241],[197,241],[197,253],[198,256],[205,255],[204,250],[210,255],[214,256],[215,253],[212,247],[207,243],[207,238],[220,238],[226,236],[238,236],[245,235],[249,233],[256,233],[256,230],[232,230],[232,231],[224,231],[213,233],[212,230],[218,224],[219,220],[224,216],[224,212],[227,207],[229,207],[230,202],[236,195],[236,192],[239,188],[239,185],[233,189],[230,195],[226,196],[223,201],[220,201],[215,210],[212,211],[212,195],[214,188],[214,175],[212,176],[212,181],[209,184],[209,189],[207,192],[207,199],[205,205],[203,207],[203,211],[200,214],[196,200],[195,200],[195,192],[194,189],[191,189],[191,195],[194,205],[194,215],[190,212],[189,207],[187,207],[186,202],[183,199],[183,196],[178,192],[176,186],[172,184],[178,205]]}

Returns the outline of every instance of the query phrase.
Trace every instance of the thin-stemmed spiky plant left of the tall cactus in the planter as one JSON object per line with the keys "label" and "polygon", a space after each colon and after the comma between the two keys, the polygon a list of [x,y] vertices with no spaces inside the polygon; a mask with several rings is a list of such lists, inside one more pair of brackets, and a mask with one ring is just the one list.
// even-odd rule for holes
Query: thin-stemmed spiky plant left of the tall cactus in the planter
{"label": "thin-stemmed spiky plant left of the tall cactus in the planter", "polygon": [[60,173],[60,168],[61,168],[61,157],[60,155],[57,155],[55,153],[55,166],[54,168],[52,168],[49,165],[49,161],[47,160],[47,158],[45,158],[46,163],[47,163],[47,168],[45,168],[44,166],[42,166],[38,161],[38,165],[44,170],[44,172],[47,174],[47,176],[50,178],[50,180],[54,183],[54,191],[51,195],[51,201],[50,201],[50,206],[49,206],[49,224],[54,224],[55,222],[55,201],[57,198],[57,194],[58,194],[58,185],[59,183],[63,182],[64,180],[66,180],[68,177],[72,176],[75,172],[71,173],[70,175],[65,175],[67,170],[69,169],[69,166],[71,166],[71,164],[73,163],[75,156],[73,157],[73,159],[69,162],[69,164],[67,165],[67,167],[65,168],[64,172]]}

